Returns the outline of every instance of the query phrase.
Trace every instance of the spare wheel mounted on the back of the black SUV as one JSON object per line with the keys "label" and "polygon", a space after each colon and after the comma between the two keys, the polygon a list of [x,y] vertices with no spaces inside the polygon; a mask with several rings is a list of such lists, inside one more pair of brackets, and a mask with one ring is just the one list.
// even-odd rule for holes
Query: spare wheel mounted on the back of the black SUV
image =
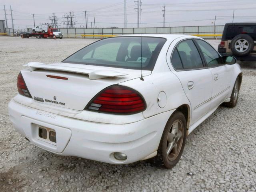
{"label": "spare wheel mounted on the back of the black SUV", "polygon": [[[241,42],[243,43],[243,40],[246,40],[246,45],[248,46],[247,49],[244,49],[242,51],[238,51],[237,49],[240,49],[239,46],[243,46],[244,44],[239,44],[239,40],[241,40]],[[236,49],[235,46],[237,46],[238,48]],[[250,52],[252,52],[254,48],[254,41],[253,39],[247,35],[247,34],[239,34],[237,36],[235,36],[231,43],[230,43],[230,49],[232,50],[233,54],[236,56],[247,56],[248,54],[250,54]]]}

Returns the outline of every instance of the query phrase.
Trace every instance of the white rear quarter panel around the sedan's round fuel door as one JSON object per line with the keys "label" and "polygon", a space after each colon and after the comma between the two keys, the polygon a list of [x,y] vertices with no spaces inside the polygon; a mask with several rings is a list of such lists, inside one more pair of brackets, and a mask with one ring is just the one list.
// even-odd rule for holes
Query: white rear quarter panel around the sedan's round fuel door
{"label": "white rear quarter panel around the sedan's round fuel door", "polygon": [[[144,81],[136,78],[120,83],[120,85],[131,87],[142,94],[147,104],[147,108],[143,112],[145,118],[176,109],[182,104],[190,106],[180,80],[170,71],[166,62],[166,53],[171,43],[172,41],[166,41],[152,74],[145,76]],[[158,95],[161,91],[165,92],[167,98],[166,106],[163,108],[158,105]]]}

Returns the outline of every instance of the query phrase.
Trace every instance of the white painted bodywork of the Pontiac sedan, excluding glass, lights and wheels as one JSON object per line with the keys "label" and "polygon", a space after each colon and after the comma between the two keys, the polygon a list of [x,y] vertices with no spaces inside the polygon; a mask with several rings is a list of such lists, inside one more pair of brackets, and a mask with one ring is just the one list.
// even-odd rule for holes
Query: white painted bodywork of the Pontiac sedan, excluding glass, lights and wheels
{"label": "white painted bodywork of the Pontiac sedan, excluding glass, lights and wheels", "polygon": [[[136,35],[132,35],[136,36]],[[10,119],[17,130],[33,144],[60,155],[80,156],[113,164],[126,164],[156,155],[158,145],[173,112],[188,107],[188,134],[205,120],[222,102],[228,102],[240,66],[176,71],[170,58],[176,44],[185,35],[145,34],[166,38],[154,70],[111,68],[81,64],[28,64],[22,75],[30,94],[65,102],[65,106],[42,103],[18,94],[8,105]],[[47,78],[64,76],[68,80]],[[214,80],[218,74],[218,80]],[[194,87],[188,89],[188,82]],[[132,115],[104,114],[84,110],[88,102],[104,88],[119,84],[138,91],[146,110]],[[158,102],[161,100],[161,104]],[[38,126],[56,130],[57,143],[38,140]],[[118,161],[113,152],[128,158]]]}

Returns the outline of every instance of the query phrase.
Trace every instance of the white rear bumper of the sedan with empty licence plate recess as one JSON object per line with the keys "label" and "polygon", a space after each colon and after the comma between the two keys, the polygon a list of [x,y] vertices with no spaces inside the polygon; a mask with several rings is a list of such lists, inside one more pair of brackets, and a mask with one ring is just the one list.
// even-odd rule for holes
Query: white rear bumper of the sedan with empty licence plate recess
{"label": "white rear bumper of the sedan with empty licence plate recess", "polygon": [[[66,156],[79,156],[111,164],[128,164],[156,154],[164,126],[174,110],[129,124],[105,124],[78,120],[24,106],[14,100],[8,105],[14,129],[32,144]],[[56,131],[54,145],[38,136],[38,126]],[[125,153],[125,161],[113,152]]]}

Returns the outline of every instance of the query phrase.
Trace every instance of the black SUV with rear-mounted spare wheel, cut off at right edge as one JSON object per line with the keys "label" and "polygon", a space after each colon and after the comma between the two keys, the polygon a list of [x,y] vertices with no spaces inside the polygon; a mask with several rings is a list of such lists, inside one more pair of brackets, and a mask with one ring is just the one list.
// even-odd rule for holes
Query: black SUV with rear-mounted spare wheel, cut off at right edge
{"label": "black SUV with rear-mounted spare wheel, cut off at right edge", "polygon": [[256,61],[256,23],[226,23],[218,52],[240,61]]}

